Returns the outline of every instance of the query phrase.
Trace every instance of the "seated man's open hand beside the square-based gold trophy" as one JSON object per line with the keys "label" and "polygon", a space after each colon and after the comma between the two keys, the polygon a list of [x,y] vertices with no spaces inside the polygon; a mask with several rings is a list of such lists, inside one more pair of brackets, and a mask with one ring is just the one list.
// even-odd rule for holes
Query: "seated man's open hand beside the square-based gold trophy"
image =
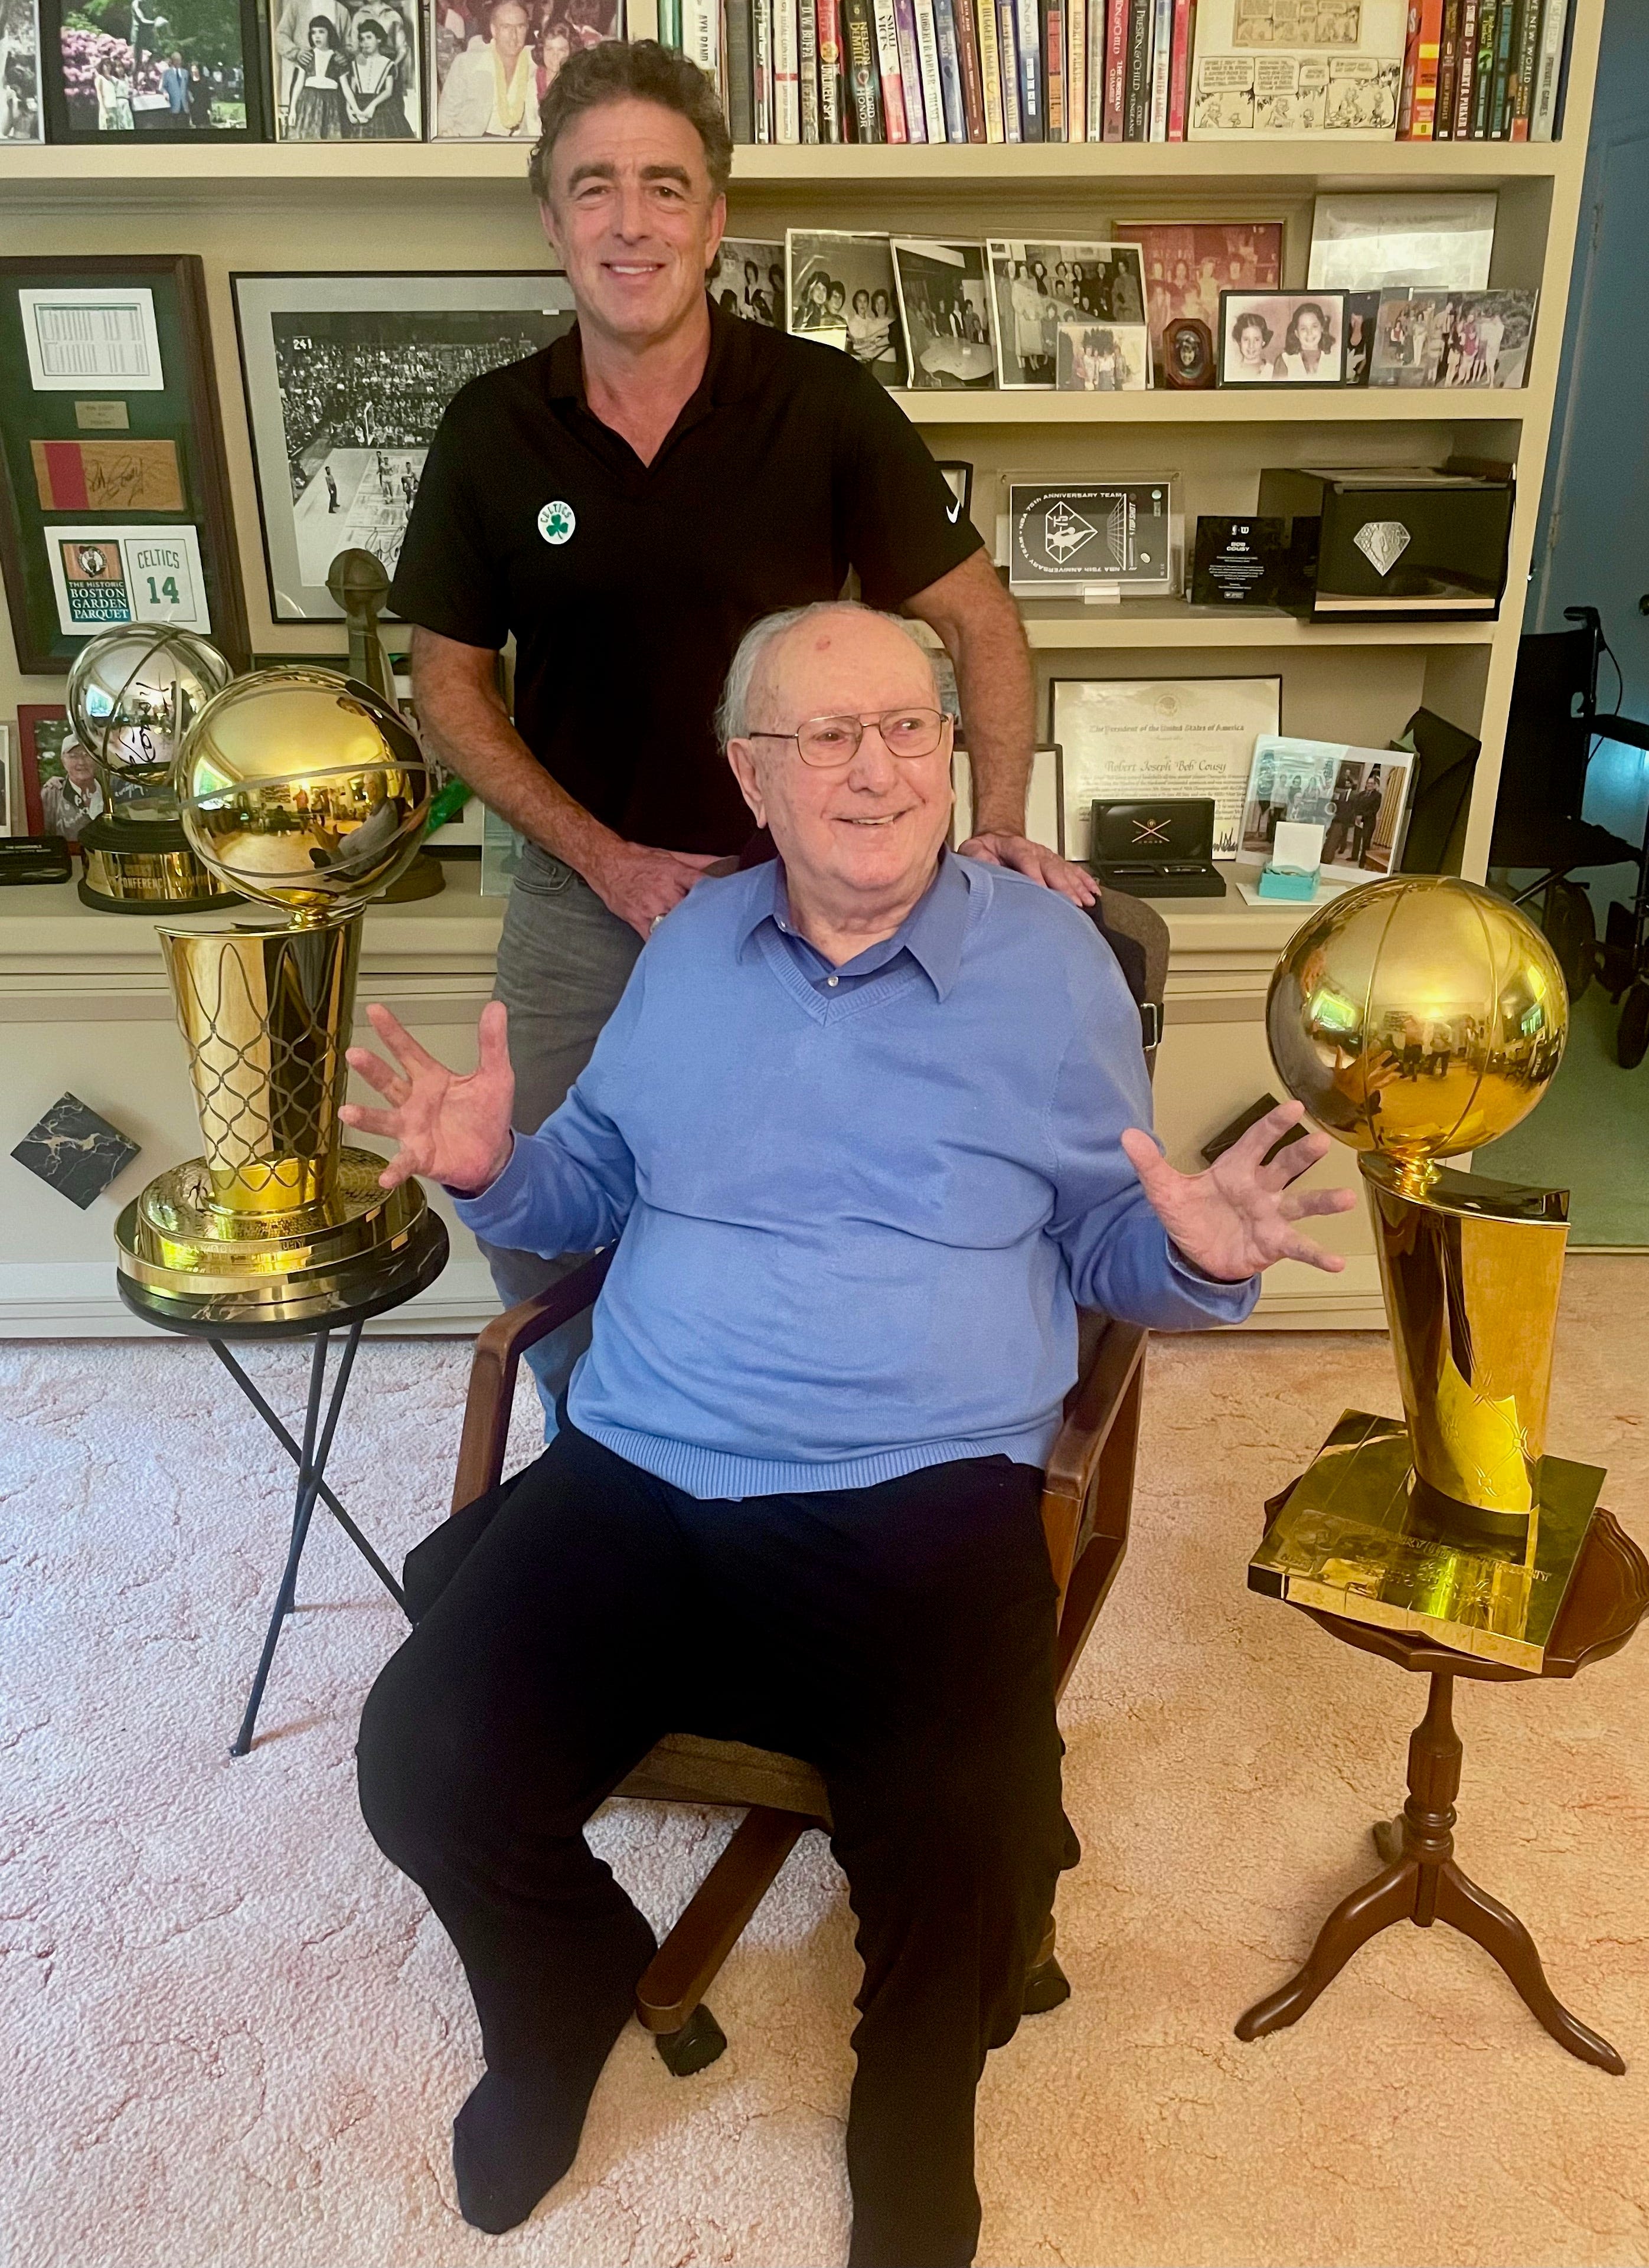
{"label": "seated man's open hand beside the square-based gold trophy", "polygon": [[1288,1127],[1300,1125],[1304,1105],[1279,1102],[1207,1173],[1175,1173],[1150,1134],[1127,1127],[1123,1150],[1141,1179],[1150,1207],[1179,1252],[1204,1275],[1241,1284],[1272,1261],[1304,1261],[1338,1275],[1345,1261],[1295,1229],[1311,1213],[1345,1213],[1354,1188],[1304,1188],[1300,1179],[1329,1152],[1327,1134],[1306,1134],[1266,1163],[1266,1152]]}

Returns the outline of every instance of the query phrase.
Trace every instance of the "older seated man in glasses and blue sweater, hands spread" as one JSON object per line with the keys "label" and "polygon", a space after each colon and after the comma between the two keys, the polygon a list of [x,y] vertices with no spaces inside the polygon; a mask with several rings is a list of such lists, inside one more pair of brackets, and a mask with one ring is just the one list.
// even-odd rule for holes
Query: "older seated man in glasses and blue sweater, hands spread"
{"label": "older seated man in glasses and blue sweater, hands spread", "polygon": [[1341,1266],[1295,1222],[1352,1200],[1288,1186],[1325,1136],[1261,1163],[1297,1105],[1168,1168],[1096,928],[944,848],[950,726],[903,624],[758,624],[724,730],[778,862],[658,928],[538,1134],[499,1005],[470,1077],[383,1009],[401,1068],[352,1052],[386,1186],[433,1175],[510,1250],[624,1236],[560,1433],[372,1690],[361,1801],[474,1991],[454,2168],[497,2232],[572,2166],[653,1955],[594,1808],[669,1730],[817,1765],[864,1960],[851,2259],[964,2263],[975,2084],[1075,1857],[1039,1467],[1077,1304],[1238,1322],[1270,1261]]}

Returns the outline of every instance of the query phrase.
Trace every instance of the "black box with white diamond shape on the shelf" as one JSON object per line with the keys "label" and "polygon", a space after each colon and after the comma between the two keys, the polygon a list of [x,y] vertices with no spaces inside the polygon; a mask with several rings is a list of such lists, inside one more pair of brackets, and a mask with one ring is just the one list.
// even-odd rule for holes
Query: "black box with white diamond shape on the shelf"
{"label": "black box with white diamond shape on the shelf", "polygon": [[1309,621],[1495,621],[1506,587],[1508,469],[1270,469],[1261,515],[1295,524]]}

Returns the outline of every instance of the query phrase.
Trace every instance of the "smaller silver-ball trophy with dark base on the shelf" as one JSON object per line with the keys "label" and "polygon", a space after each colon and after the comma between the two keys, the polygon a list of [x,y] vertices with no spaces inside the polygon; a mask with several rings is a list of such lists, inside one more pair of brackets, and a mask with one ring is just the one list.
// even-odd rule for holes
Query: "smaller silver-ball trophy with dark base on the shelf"
{"label": "smaller silver-ball trophy with dark base on the shelf", "polygon": [[104,914],[188,914],[234,905],[184,835],[172,764],[195,717],[231,678],[193,631],[120,624],[88,637],[64,705],[102,787],[102,812],[79,830],[79,896]]}

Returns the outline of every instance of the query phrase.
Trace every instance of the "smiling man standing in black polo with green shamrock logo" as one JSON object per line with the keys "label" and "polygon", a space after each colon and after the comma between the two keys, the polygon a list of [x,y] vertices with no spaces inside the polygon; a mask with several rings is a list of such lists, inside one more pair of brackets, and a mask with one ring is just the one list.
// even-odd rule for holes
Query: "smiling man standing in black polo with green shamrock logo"
{"label": "smiling man standing in black polo with green shamrock logo", "polygon": [[[567,64],[528,181],[578,327],[458,392],[390,592],[417,626],[433,753],[528,844],[497,980],[524,1132],[583,1070],[649,930],[751,839],[712,723],[739,637],[835,599],[848,572],[955,660],[969,850],[1093,896],[1023,839],[1030,653],[925,445],[851,356],[710,306],[730,163],[721,107],[685,57],[608,41]],[[515,721],[497,687],[510,633]],[[488,1259],[506,1304],[560,1272]]]}

